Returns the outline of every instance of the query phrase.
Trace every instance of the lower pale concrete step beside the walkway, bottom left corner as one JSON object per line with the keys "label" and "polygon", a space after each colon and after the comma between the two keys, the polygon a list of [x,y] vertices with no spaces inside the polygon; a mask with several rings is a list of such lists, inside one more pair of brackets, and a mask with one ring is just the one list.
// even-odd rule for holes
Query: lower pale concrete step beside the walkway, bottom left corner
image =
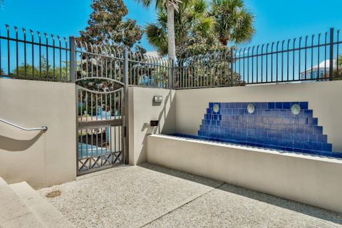
{"label": "lower pale concrete step beside the walkway, bottom left corner", "polygon": [[74,227],[68,219],[63,217],[61,212],[53,207],[53,205],[51,205],[46,199],[41,197],[38,192],[33,190],[33,188],[26,182],[12,184],[10,186],[44,227]]}

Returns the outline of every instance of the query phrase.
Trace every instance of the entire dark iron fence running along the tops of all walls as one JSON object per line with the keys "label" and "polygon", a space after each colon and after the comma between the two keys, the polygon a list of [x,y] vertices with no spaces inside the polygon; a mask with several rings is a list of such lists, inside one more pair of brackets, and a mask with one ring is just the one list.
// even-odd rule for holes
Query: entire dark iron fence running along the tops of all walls
{"label": "entire dark iron fence running along the tops of all walls", "polygon": [[[3,32],[4,30],[4,32]],[[130,86],[205,88],[342,78],[340,30],[170,63],[165,58],[77,42],[24,28],[0,29],[0,76],[44,81],[112,78]],[[43,34],[43,35],[42,35]],[[90,55],[91,53],[91,55]]]}

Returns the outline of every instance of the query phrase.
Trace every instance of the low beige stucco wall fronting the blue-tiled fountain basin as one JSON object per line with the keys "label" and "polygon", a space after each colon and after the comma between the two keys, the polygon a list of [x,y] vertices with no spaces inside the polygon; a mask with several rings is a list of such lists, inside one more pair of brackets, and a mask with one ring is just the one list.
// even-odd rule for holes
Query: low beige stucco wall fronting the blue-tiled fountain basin
{"label": "low beige stucco wall fronting the blue-tiled fountain basin", "polygon": [[341,160],[150,135],[147,162],[342,212]]}

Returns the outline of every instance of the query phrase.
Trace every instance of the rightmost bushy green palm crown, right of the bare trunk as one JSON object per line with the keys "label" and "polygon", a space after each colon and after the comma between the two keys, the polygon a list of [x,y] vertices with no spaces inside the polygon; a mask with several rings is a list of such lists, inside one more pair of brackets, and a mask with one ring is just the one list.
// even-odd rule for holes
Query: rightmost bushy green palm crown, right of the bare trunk
{"label": "rightmost bushy green palm crown, right of the bare trunk", "polygon": [[222,45],[229,41],[243,43],[255,33],[254,15],[243,0],[212,0],[211,15],[216,19],[215,30]]}

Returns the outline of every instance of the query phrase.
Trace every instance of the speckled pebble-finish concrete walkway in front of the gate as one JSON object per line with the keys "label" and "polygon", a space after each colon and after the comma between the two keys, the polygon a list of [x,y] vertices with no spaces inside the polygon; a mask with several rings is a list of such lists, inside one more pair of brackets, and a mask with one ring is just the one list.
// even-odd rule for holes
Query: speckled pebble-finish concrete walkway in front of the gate
{"label": "speckled pebble-finish concrete walkway in front of the gate", "polygon": [[38,190],[76,227],[342,227],[342,214],[154,165]]}

